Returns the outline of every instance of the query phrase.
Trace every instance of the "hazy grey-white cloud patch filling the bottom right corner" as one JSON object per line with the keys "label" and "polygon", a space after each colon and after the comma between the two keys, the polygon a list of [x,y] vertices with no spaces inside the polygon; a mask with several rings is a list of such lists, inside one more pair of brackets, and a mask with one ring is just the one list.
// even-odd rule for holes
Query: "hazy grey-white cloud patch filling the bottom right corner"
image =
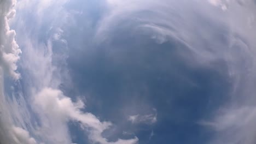
{"label": "hazy grey-white cloud patch filling the bottom right corner", "polygon": [[255,143],[256,107],[243,106],[219,110],[212,121],[202,121],[200,124],[216,131],[210,143]]}

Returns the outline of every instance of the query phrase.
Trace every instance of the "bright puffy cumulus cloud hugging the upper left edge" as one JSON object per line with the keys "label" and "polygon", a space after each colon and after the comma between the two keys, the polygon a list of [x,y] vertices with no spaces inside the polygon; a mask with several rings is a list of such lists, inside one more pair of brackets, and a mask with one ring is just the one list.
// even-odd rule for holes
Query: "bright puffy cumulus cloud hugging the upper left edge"
{"label": "bright puffy cumulus cloud hugging the upper left edge", "polygon": [[16,1],[4,0],[0,2],[0,66],[4,73],[18,79],[20,75],[15,72],[16,62],[21,50],[15,41],[15,31],[10,30],[9,20],[14,17]]}

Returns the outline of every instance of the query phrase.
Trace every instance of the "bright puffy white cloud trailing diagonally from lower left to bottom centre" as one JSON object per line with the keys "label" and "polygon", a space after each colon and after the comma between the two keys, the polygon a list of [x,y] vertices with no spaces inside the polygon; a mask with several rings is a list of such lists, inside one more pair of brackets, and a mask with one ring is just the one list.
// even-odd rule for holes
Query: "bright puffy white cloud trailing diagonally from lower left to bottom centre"
{"label": "bright puffy white cloud trailing diagonally from lower left to bottom centre", "polygon": [[[84,106],[82,101],[73,103],[70,98],[63,95],[58,89],[44,88],[37,94],[34,103],[38,106],[38,112],[43,111],[46,117],[50,117],[48,123],[51,125],[60,122],[65,123],[65,121],[82,123],[82,129],[89,131],[89,138],[93,142],[102,144],[135,144],[138,141],[137,137],[135,137],[130,140],[119,139],[116,142],[108,142],[106,138],[101,136],[101,133],[108,129],[111,123],[100,122],[100,120],[91,113],[82,112],[81,109],[83,109]],[[46,127],[50,127],[50,125],[47,125]],[[48,132],[51,133],[50,131]]]}

